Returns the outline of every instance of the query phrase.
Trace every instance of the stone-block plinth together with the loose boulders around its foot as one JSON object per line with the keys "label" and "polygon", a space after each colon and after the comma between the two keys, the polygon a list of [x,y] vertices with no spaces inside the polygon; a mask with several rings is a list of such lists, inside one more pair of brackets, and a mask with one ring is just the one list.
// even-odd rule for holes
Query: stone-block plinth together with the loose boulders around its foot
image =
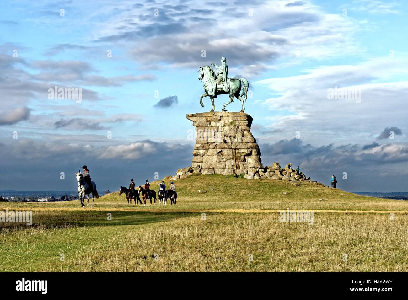
{"label": "stone-block plinth together with the loose boulders around its foot", "polygon": [[[175,176],[164,179],[178,180],[194,175],[222,174],[242,176],[246,179],[287,180],[323,185],[311,180],[302,172],[282,168],[274,162],[264,167],[261,151],[251,133],[252,117],[246,113],[216,111],[188,113],[197,131],[191,167],[178,169]],[[290,164],[292,166],[292,164]]]}

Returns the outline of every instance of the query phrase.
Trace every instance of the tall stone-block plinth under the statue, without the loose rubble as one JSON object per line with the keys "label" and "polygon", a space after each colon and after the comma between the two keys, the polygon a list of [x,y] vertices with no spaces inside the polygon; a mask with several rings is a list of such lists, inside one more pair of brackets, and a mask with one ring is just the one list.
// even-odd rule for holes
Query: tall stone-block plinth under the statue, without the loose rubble
{"label": "tall stone-block plinth under the statue, without the loose rubble", "polygon": [[253,174],[261,163],[261,152],[251,133],[252,117],[246,113],[215,111],[188,113],[197,138],[193,151],[194,171],[202,174]]}

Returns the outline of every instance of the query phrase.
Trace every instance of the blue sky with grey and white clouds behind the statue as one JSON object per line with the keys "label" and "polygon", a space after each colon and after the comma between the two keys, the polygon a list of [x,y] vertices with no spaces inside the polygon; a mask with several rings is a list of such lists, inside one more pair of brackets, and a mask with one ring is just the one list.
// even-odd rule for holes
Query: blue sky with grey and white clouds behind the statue
{"label": "blue sky with grey and white clouds behind the statue", "polygon": [[186,113],[211,110],[197,72],[225,56],[229,76],[249,81],[264,166],[408,191],[407,5],[2,1],[0,190],[76,190],[84,164],[99,191],[118,190],[191,165]]}

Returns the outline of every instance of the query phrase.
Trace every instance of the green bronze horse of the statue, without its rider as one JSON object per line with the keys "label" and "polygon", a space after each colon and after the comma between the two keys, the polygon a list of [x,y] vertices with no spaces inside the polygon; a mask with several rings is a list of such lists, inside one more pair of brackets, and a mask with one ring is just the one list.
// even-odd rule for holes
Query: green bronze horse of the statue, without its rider
{"label": "green bronze horse of the statue, without its rider", "polygon": [[[214,88],[214,80],[215,80],[215,72],[213,68],[210,66],[204,66],[200,67],[200,70],[198,71],[200,73],[200,76],[198,76],[198,79],[202,81],[203,86],[204,86],[204,91],[205,93],[201,95],[200,97],[200,104],[202,107],[204,107],[203,104],[203,97],[208,96],[208,91],[212,91]],[[242,85],[241,85],[242,82]],[[242,87],[242,94],[239,96],[239,92],[241,91]],[[240,79],[235,79],[231,78],[231,85],[229,91],[224,91],[223,89],[223,84],[218,84],[215,87],[217,90],[215,91],[216,95],[222,95],[222,94],[228,94],[229,95],[229,102],[225,103],[222,107],[222,111],[226,111],[225,107],[230,104],[231,102],[234,101],[234,97],[237,98],[239,101],[242,102],[242,110],[241,112],[244,112],[245,110],[245,105],[244,101],[246,101],[246,98],[248,97],[248,80],[245,78],[240,78]],[[214,97],[210,96],[211,102],[213,103],[213,109],[211,111],[215,111],[215,105],[214,105]]]}

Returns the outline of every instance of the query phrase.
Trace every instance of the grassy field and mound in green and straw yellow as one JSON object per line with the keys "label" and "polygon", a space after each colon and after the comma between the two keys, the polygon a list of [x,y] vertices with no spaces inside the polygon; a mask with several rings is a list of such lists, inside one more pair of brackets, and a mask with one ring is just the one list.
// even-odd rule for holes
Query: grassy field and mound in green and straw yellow
{"label": "grassy field and mound in green and straw yellow", "polygon": [[[146,207],[127,204],[118,193],[86,208],[80,208],[79,201],[1,202],[0,210],[33,210],[33,225],[0,225],[0,267],[4,271],[406,271],[407,201],[220,175],[191,176],[175,183],[177,205],[168,202],[165,207],[158,202]],[[157,191],[157,182],[151,187]],[[279,211],[287,208],[313,210],[313,225],[279,222]],[[112,220],[107,220],[108,213]],[[253,261],[248,260],[251,255]]]}

